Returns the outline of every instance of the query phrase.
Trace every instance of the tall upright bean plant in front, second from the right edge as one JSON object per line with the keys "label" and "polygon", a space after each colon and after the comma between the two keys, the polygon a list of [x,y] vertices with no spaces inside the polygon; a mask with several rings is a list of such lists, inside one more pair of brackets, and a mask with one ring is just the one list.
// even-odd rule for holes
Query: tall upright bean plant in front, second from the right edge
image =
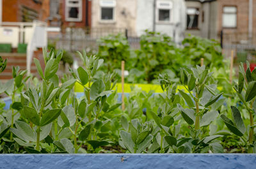
{"label": "tall upright bean plant in front, second from the right edge", "polygon": [[[209,73],[205,66],[180,70],[180,80],[189,94],[180,90],[179,93],[189,108],[183,108],[179,104],[177,106],[184,120],[191,126],[190,136],[193,152],[205,152],[209,148],[216,152],[221,147],[218,142],[212,143],[221,135],[205,136],[202,133],[204,127],[218,117],[216,105],[218,105],[218,99],[222,94],[215,92],[216,85],[211,84],[211,76],[212,73]],[[218,149],[216,150],[214,147],[218,147]]]}

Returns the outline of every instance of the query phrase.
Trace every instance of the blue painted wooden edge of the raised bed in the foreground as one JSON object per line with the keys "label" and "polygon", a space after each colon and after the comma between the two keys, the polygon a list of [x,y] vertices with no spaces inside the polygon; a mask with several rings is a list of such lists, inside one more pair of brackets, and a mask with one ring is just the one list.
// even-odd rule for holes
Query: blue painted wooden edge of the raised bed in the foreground
{"label": "blue painted wooden edge of the raised bed in the foreground", "polygon": [[8,169],[256,168],[255,154],[0,154]]}

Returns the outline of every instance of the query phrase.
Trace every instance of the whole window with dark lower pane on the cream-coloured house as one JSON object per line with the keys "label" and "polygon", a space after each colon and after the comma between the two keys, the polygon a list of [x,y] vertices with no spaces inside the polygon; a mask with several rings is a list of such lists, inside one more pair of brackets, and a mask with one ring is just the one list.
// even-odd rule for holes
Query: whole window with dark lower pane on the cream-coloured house
{"label": "whole window with dark lower pane on the cream-coloured house", "polygon": [[115,20],[115,0],[101,0],[100,1],[100,20],[113,21]]}

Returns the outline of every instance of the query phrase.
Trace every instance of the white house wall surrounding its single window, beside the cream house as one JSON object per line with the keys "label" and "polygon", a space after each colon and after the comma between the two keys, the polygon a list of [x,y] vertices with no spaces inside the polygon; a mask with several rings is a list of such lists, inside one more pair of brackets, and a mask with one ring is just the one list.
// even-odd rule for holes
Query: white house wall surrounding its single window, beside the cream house
{"label": "white house wall surrounding its single window, beside the cream house", "polygon": [[[136,20],[136,31],[138,36],[143,34],[145,29],[152,31],[155,22],[155,31],[168,34],[168,36],[171,36],[176,42],[182,40],[186,29],[186,6],[184,0],[165,1],[172,1],[173,3],[171,22],[168,23],[157,21],[157,8],[154,11],[154,0],[138,0],[138,14]],[[154,13],[156,15],[156,20],[154,20]]]}

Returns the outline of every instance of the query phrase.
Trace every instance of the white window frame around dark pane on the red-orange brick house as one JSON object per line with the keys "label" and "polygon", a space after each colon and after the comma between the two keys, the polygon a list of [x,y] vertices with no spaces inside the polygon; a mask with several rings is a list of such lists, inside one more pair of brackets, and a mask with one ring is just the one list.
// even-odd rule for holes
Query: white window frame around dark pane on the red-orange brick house
{"label": "white window frame around dark pane on the red-orange brick house", "polygon": [[[77,4],[70,4],[70,1],[77,1]],[[65,1],[65,20],[68,22],[81,22],[83,20],[83,0],[66,0]],[[76,7],[78,8],[78,18],[68,17],[68,8]]]}

